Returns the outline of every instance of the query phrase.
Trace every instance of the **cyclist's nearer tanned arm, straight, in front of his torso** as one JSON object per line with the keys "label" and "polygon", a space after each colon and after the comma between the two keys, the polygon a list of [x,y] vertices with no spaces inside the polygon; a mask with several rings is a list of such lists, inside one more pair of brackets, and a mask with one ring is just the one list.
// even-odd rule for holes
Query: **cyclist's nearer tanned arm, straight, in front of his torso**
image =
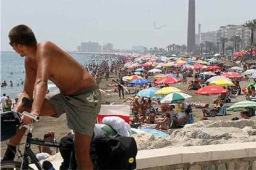
{"label": "cyclist's nearer tanned arm, straight, in front of his torso", "polygon": [[31,113],[35,115],[40,115],[41,106],[43,100],[45,100],[45,95],[48,89],[47,82],[49,78],[49,65],[51,62],[49,51],[46,49],[46,46],[47,44],[41,44],[41,46],[38,47],[36,56],[38,68],[35,81],[35,98],[31,110]]}

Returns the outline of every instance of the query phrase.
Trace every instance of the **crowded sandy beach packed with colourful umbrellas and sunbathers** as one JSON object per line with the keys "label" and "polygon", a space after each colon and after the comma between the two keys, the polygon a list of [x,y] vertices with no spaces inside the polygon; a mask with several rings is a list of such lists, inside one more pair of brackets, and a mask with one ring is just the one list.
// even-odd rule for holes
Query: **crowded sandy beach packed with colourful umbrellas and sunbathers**
{"label": "crowded sandy beach packed with colourful umbrellas and sunbathers", "polygon": [[[225,143],[220,135],[214,141],[206,136],[205,141],[209,138],[210,142],[195,140],[197,142],[193,144],[186,144],[187,137],[181,137],[182,131],[193,128],[198,131],[203,131],[204,127],[217,128],[220,133],[230,131],[233,134],[234,128],[241,130],[250,126],[248,131],[255,131],[256,68],[254,60],[243,60],[243,55],[242,52],[233,57],[220,54],[208,57],[108,54],[101,55],[107,57],[100,64],[83,65],[95,78],[103,98],[95,125],[96,137],[107,134],[134,136],[139,150],[143,150],[222,144],[220,140]],[[116,60],[109,62],[112,57]],[[1,102],[6,98],[2,96]],[[14,107],[15,101],[6,99],[6,103],[2,102],[2,111]],[[58,127],[54,126],[56,123]],[[226,124],[225,127],[223,124]],[[110,126],[111,132],[101,132],[106,129],[103,126]],[[230,129],[233,129],[232,132]],[[35,124],[34,132],[35,137],[51,140],[60,140],[72,133],[63,116],[60,119],[42,118],[40,123]],[[255,140],[249,134],[237,136],[240,138],[234,140],[234,134],[233,140],[226,142],[236,142],[238,138]],[[41,158],[42,150],[36,147],[33,150]]]}

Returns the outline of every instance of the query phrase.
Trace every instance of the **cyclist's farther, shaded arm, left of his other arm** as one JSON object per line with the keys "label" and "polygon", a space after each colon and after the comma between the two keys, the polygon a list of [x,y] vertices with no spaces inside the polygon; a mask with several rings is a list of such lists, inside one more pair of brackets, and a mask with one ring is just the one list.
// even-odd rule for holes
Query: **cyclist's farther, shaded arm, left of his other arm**
{"label": "cyclist's farther, shaded arm, left of his other arm", "polygon": [[32,65],[35,66],[36,63],[32,62],[32,59],[25,57],[25,83],[23,87],[23,92],[19,97],[18,103],[14,108],[14,111],[22,112],[25,108],[22,107],[22,98],[28,97],[33,99],[33,91],[34,91],[34,84],[36,80],[36,69],[32,68]]}

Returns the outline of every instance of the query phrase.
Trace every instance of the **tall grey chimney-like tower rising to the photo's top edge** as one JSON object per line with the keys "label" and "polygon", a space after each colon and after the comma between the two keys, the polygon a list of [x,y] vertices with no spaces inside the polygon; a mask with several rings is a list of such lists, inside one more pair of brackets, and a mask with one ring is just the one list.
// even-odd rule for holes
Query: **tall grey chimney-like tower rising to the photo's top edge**
{"label": "tall grey chimney-like tower rising to the photo's top edge", "polygon": [[195,0],[189,0],[187,24],[187,52],[195,49]]}

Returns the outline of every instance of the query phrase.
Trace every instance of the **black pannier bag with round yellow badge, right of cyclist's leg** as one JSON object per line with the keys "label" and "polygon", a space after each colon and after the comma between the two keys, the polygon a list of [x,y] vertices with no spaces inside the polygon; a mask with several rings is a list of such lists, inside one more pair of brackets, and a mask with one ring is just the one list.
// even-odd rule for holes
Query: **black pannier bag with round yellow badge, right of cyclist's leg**
{"label": "black pannier bag with round yellow badge, right of cyclist's leg", "polygon": [[94,142],[96,169],[135,169],[137,145],[133,137],[105,137]]}

